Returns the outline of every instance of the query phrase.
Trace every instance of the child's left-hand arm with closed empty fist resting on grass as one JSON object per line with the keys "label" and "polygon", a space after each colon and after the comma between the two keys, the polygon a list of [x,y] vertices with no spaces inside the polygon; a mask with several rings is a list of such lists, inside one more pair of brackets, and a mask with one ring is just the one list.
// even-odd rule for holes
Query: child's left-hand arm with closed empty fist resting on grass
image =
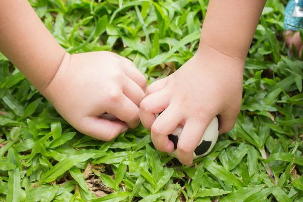
{"label": "child's left-hand arm with closed empty fist resting on grass", "polygon": [[110,52],[66,53],[27,0],[0,1],[0,52],[78,131],[108,141],[139,124],[146,79],[136,66]]}

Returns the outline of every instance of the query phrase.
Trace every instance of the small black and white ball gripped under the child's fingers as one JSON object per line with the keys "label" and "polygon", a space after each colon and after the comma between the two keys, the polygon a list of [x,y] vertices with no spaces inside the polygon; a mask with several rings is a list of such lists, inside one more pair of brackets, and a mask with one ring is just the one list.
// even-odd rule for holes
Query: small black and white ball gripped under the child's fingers
{"label": "small black and white ball gripped under the child's fingers", "polygon": [[[156,114],[156,119],[158,118],[158,116],[159,114]],[[182,132],[182,128],[178,126],[171,134],[168,135],[169,140],[171,140],[174,143],[174,151],[170,155],[175,158],[178,158],[177,145],[181,132]],[[214,148],[218,140],[218,135],[219,135],[219,122],[218,122],[218,117],[215,117],[210,123],[210,125],[207,127],[207,129],[205,130],[203,137],[201,138],[198,146],[195,148],[192,157],[193,160],[208,155],[211,152],[211,150]]]}

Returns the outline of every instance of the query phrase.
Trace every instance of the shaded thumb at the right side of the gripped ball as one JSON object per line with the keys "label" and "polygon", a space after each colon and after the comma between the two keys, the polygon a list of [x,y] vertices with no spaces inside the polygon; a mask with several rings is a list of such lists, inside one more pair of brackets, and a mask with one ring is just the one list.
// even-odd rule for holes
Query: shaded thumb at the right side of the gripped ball
{"label": "shaded thumb at the right side of the gripped ball", "polygon": [[231,131],[237,121],[238,112],[235,110],[227,110],[218,115],[219,135]]}

